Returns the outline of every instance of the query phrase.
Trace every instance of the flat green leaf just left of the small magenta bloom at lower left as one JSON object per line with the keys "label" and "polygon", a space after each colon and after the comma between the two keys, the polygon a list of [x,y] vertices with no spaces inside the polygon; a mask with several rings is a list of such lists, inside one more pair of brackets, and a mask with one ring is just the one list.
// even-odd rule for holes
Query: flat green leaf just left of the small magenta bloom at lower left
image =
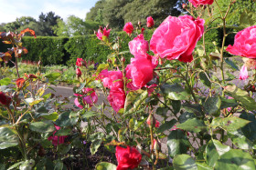
{"label": "flat green leaf just left of the small magenta bloom at lower left", "polygon": [[56,131],[55,126],[50,121],[34,122],[29,125],[30,130],[38,133],[49,133]]}

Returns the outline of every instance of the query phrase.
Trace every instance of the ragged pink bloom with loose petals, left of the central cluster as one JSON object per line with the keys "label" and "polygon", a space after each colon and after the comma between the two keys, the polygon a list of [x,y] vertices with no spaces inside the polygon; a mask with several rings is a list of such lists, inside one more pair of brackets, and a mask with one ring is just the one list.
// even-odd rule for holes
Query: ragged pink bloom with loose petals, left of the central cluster
{"label": "ragged pink bloom with loose petals, left of the central cluster", "polygon": [[[82,99],[83,105],[90,105],[96,104],[98,101],[98,95],[95,93],[95,90],[93,88],[83,88],[82,94],[74,94],[76,96],[80,96]],[[90,95],[88,95],[90,94]],[[83,108],[83,105],[80,105],[79,97],[75,98],[74,101],[75,105],[77,105],[80,108]]]}

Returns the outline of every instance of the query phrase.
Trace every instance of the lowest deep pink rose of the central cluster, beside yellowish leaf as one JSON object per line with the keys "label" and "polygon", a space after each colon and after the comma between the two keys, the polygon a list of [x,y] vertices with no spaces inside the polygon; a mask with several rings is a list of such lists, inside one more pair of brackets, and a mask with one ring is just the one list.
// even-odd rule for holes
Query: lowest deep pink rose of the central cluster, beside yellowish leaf
{"label": "lowest deep pink rose of the central cluster, beside yellowish leaf", "polygon": [[124,108],[125,93],[123,89],[112,87],[108,100],[115,112],[118,112],[120,109]]}

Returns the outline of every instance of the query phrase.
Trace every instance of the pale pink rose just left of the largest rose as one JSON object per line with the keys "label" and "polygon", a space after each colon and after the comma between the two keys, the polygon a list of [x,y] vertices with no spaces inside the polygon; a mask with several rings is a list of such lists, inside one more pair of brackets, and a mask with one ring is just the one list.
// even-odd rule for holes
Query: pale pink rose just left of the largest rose
{"label": "pale pink rose just left of the largest rose", "polygon": [[129,48],[132,55],[147,55],[146,52],[149,50],[148,42],[144,40],[144,35],[138,35],[129,42]]}

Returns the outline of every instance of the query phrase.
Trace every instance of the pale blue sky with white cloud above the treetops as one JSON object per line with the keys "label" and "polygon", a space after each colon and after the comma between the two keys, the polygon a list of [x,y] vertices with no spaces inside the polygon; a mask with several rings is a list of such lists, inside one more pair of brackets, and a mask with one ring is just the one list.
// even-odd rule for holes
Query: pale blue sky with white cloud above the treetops
{"label": "pale blue sky with white cloud above the treetops", "polygon": [[32,16],[52,11],[64,20],[69,15],[85,18],[98,0],[0,0],[0,24],[9,23],[21,16]]}

